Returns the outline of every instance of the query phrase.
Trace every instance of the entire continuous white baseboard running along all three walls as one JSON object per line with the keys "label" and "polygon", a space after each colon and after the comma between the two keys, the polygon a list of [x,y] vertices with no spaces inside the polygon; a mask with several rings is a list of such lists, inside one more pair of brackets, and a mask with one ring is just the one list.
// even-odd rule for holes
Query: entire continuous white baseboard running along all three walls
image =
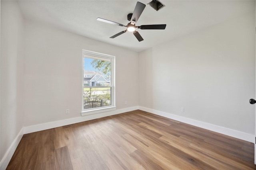
{"label": "entire continuous white baseboard running along all three walls", "polygon": [[106,116],[110,116],[110,115],[116,115],[116,114],[120,114],[120,113],[125,113],[128,111],[133,111],[133,110],[137,110],[140,109],[142,111],[147,111],[156,115],[160,115],[163,117],[167,117],[169,119],[174,119],[176,121],[180,121],[183,123],[188,123],[190,125],[194,125],[197,127],[201,127],[204,129],[208,129],[210,131],[214,131],[217,133],[221,133],[224,135],[228,135],[231,137],[235,137],[238,139],[242,139],[244,141],[248,141],[251,143],[255,143],[255,138],[254,135],[252,134],[248,134],[248,133],[244,133],[244,132],[240,132],[240,131],[236,131],[233,129],[228,129],[225,127],[220,127],[217,125],[212,125],[210,123],[205,123],[202,121],[197,121],[194,119],[190,119],[190,118],[186,118],[186,117],[182,117],[182,116],[178,116],[178,115],[174,115],[174,114],[170,114],[170,113],[166,113],[166,112],[162,112],[162,111],[158,111],[158,110],[154,110],[154,109],[149,109],[146,107],[141,107],[141,106],[134,106],[134,107],[128,107],[128,108],[124,108],[124,109],[117,109],[114,111],[108,111],[108,112],[104,112],[104,113],[98,113],[98,114],[93,114],[93,115],[86,115],[86,116],[81,116],[81,117],[75,117],[72,119],[64,119],[64,120],[60,120],[60,121],[54,121],[54,122],[49,122],[49,123],[43,123],[43,124],[39,124],[39,125],[32,125],[32,126],[28,126],[28,127],[24,127],[20,130],[20,132],[18,133],[18,135],[16,136],[16,138],[14,139],[12,145],[10,146],[10,148],[8,149],[8,151],[6,152],[6,154],[4,155],[4,157],[2,158],[1,162],[0,162],[0,170],[5,170],[12,158],[12,155],[14,154],[18,144],[20,143],[20,140],[23,136],[23,134],[26,133],[32,133],[32,132],[36,132],[36,131],[42,131],[42,130],[46,130],[46,129],[51,129],[51,128],[55,128],[55,127],[60,127],[60,126],[64,126],[64,125],[70,125],[70,124],[74,124],[74,123],[79,123],[82,121],[88,121],[88,120],[92,120],[92,119],[98,119],[101,117],[106,117]]}

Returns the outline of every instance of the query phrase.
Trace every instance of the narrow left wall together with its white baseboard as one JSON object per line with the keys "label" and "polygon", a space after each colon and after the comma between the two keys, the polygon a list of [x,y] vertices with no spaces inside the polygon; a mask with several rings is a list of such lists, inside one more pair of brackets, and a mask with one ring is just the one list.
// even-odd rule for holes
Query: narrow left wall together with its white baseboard
{"label": "narrow left wall together with its white baseboard", "polygon": [[1,169],[23,135],[22,14],[15,1],[1,1]]}

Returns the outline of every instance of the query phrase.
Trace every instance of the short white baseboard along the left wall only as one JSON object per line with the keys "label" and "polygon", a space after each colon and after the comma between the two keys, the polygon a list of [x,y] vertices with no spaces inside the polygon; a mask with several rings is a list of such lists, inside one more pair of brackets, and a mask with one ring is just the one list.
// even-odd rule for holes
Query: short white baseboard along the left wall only
{"label": "short white baseboard along the left wall only", "polygon": [[24,128],[22,128],[20,130],[20,132],[18,133],[18,135],[12,142],[12,145],[10,146],[10,148],[7,150],[6,154],[2,158],[2,160],[0,162],[0,170],[5,170],[7,168],[8,164],[12,158],[12,155],[14,154],[16,148],[18,147],[18,145],[20,143],[20,140],[24,134],[23,132],[24,132]]}

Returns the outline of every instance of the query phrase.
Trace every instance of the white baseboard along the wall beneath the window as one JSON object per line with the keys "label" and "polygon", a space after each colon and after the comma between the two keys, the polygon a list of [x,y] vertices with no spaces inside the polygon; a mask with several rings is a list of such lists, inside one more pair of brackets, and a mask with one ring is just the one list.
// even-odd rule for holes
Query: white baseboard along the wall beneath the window
{"label": "white baseboard along the wall beneath the window", "polygon": [[113,111],[106,111],[103,113],[90,114],[90,115],[85,115],[85,116],[81,116],[81,117],[74,117],[71,119],[64,119],[64,120],[60,120],[60,121],[53,121],[53,122],[42,123],[42,124],[38,124],[38,125],[27,126],[27,127],[24,127],[24,134],[37,132],[37,131],[43,131],[46,129],[52,129],[55,127],[60,127],[60,126],[65,126],[65,125],[71,125],[74,123],[80,123],[83,121],[98,119],[101,117],[116,115],[116,114],[125,113],[128,111],[133,111],[133,110],[137,110],[137,109],[139,109],[139,106],[128,107],[128,108],[124,108],[124,109],[116,109]]}

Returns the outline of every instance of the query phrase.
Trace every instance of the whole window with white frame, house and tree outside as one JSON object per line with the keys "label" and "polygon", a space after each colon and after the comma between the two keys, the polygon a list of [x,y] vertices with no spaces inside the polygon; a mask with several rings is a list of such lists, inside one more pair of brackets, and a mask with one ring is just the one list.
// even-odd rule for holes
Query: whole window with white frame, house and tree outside
{"label": "whole window with white frame, house and tree outside", "polygon": [[114,110],[115,57],[83,50],[82,115]]}

